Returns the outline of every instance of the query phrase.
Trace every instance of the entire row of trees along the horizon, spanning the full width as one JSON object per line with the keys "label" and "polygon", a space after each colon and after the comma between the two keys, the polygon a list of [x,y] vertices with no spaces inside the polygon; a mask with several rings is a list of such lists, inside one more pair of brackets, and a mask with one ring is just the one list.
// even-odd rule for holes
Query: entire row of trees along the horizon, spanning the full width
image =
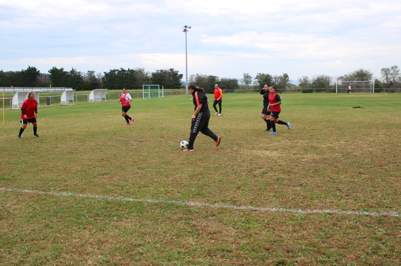
{"label": "entire row of trees along the horizon, spanning the full width", "polygon": [[[329,76],[316,74],[312,77],[302,76],[298,78],[299,88],[335,88],[336,81],[361,81],[373,80],[375,88],[399,88],[401,87],[401,71],[397,65],[383,67],[380,77],[373,77],[369,69],[360,68],[348,72],[342,76]],[[182,74],[174,68],[159,69],[154,72],[147,71],[143,67],[110,69],[108,72],[95,73],[77,71],[75,68],[67,71],[63,67],[52,67],[48,73],[41,73],[36,67],[28,66],[21,71],[0,71],[0,86],[9,87],[72,87],[76,90],[91,90],[95,88],[107,89],[140,89],[143,84],[159,84],[166,89],[182,87]],[[254,80],[252,82],[252,80]],[[219,77],[217,75],[191,74],[189,83],[204,87],[208,93],[213,93],[214,85],[219,84],[222,89],[238,89],[240,84],[247,88],[260,89],[266,83],[275,85],[278,89],[289,88],[290,78],[287,73],[271,75],[257,72],[255,77],[244,73],[243,77]],[[252,85],[251,85],[252,83]],[[251,85],[251,86],[250,86]]]}

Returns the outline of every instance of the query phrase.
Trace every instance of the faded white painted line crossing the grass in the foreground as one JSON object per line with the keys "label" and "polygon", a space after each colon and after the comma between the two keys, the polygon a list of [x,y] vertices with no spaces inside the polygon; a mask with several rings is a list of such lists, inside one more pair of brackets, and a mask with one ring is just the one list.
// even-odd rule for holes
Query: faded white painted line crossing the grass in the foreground
{"label": "faded white painted line crossing the grass in the foreground", "polygon": [[354,211],[354,210],[338,210],[338,209],[288,209],[288,208],[268,208],[268,207],[253,207],[253,206],[235,206],[235,205],[226,205],[226,204],[199,203],[199,202],[194,202],[194,201],[159,200],[159,199],[147,199],[147,198],[131,198],[131,197],[122,197],[122,196],[78,194],[78,193],[68,193],[68,192],[36,191],[36,190],[16,189],[16,188],[7,188],[7,187],[0,187],[0,191],[47,194],[47,195],[56,195],[56,196],[75,196],[75,197],[86,197],[86,198],[99,198],[99,199],[118,200],[118,201],[148,202],[148,203],[155,203],[155,204],[161,203],[161,204],[177,204],[177,205],[188,205],[188,206],[210,207],[210,208],[246,209],[246,210],[266,211],[266,212],[293,212],[293,213],[301,213],[301,214],[333,213],[333,214],[345,214],[345,215],[393,216],[393,217],[400,216],[400,213],[398,213],[398,212],[372,212],[372,211]]}

